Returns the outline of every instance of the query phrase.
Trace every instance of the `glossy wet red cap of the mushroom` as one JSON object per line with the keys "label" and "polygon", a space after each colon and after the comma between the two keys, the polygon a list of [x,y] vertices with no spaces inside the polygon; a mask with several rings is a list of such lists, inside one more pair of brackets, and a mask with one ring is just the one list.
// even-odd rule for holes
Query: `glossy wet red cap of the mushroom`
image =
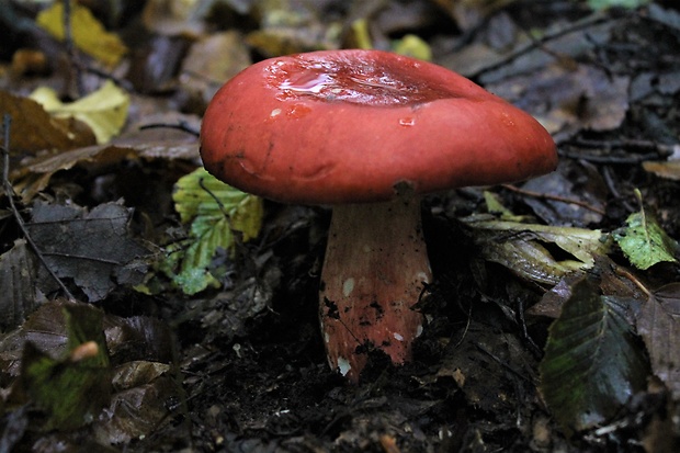
{"label": "glossy wet red cap of the mushroom", "polygon": [[271,58],[215,94],[201,154],[217,178],[292,203],[386,201],[519,181],[557,165],[529,114],[443,67],[379,50]]}

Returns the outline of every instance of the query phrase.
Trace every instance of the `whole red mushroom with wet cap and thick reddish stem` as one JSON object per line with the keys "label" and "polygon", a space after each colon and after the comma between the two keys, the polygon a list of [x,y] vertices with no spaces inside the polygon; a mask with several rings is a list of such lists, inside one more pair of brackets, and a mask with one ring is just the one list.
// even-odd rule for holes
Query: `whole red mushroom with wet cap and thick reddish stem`
{"label": "whole red mushroom with wet cap and thick reddish stem", "polygon": [[319,315],[328,361],[351,381],[366,347],[411,359],[432,281],[423,194],[555,169],[529,114],[443,67],[379,50],[271,58],[230,79],[201,127],[205,168],[242,191],[332,205]]}

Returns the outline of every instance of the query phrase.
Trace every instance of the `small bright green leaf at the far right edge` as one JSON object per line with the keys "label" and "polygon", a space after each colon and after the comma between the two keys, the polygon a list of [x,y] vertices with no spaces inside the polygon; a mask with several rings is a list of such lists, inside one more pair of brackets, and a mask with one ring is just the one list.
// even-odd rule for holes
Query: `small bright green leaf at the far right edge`
{"label": "small bright green leaf at the far right edge", "polygon": [[[638,192],[639,196],[639,192]],[[612,233],[628,261],[646,270],[659,262],[678,262],[673,253],[678,242],[659,226],[656,218],[642,207],[626,219],[626,226]]]}

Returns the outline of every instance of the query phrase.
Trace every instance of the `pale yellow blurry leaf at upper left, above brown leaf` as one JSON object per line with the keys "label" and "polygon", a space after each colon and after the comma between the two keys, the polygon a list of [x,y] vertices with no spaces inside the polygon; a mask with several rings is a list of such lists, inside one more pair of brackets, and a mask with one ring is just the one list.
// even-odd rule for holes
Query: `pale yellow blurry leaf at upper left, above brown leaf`
{"label": "pale yellow blurry leaf at upper left, above brown leaf", "polygon": [[107,143],[117,135],[125,120],[129,97],[111,80],[97,91],[70,103],[63,103],[52,88],[41,87],[31,93],[31,99],[38,102],[56,117],[72,116],[92,128],[97,143]]}

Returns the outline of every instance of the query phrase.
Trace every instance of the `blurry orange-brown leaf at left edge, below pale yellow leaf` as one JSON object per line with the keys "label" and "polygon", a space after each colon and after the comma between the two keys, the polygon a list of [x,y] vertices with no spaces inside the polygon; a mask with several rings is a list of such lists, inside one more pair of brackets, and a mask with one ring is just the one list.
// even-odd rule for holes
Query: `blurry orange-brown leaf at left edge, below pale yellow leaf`
{"label": "blurry orange-brown leaf at left edge, below pale yellow leaf", "polygon": [[71,149],[94,144],[92,132],[72,118],[50,116],[37,102],[0,90],[0,114],[12,118],[10,152]]}

